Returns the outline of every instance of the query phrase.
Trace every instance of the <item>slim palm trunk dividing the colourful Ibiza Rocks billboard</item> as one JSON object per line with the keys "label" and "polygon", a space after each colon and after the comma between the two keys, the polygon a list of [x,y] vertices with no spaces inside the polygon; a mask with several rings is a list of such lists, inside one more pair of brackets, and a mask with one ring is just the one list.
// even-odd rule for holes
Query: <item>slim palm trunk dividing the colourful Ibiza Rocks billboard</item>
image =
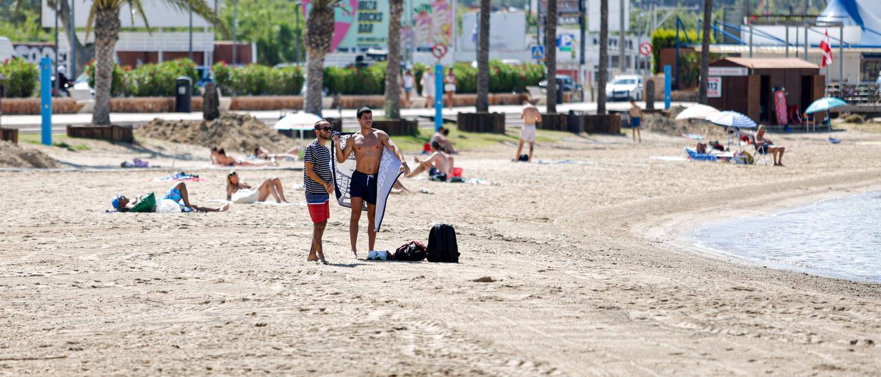
{"label": "slim palm trunk dividing the colourful Ibiza Rocks billboard", "polygon": [[386,101],[382,107],[389,119],[401,119],[401,14],[403,0],[389,0],[389,55],[386,66]]}

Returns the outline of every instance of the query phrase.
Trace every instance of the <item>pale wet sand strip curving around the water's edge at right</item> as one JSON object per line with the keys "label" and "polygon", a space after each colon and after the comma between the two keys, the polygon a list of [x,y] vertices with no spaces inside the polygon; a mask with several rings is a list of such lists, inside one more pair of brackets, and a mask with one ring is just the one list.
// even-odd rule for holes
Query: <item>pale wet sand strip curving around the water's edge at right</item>
{"label": "pale wet sand strip curving around the water's edge at right", "polygon": [[[700,211],[718,211],[714,212],[714,215],[716,215],[718,219],[704,220],[694,218],[695,213],[698,211],[677,213],[668,216],[668,218],[659,225],[648,226],[643,234],[655,240],[662,239],[664,235],[672,235],[670,240],[677,247],[683,248],[686,251],[691,252],[695,255],[703,255],[715,260],[725,259],[731,261],[733,259],[733,261],[731,262],[751,267],[766,267],[772,268],[774,270],[790,271],[794,273],[807,273],[815,277],[825,277],[834,280],[846,280],[852,283],[881,286],[881,281],[835,275],[832,272],[828,274],[818,273],[819,270],[816,268],[803,267],[795,264],[787,264],[783,262],[775,262],[769,260],[745,258],[741,255],[727,253],[724,250],[701,245],[700,240],[698,240],[694,235],[695,232],[697,232],[700,228],[712,226],[714,224],[734,220],[742,220],[744,218],[757,218],[773,213],[778,213],[781,211],[796,209],[799,207],[810,205],[811,203],[818,203],[830,199],[857,196],[870,192],[881,192],[881,183],[878,183],[877,180],[854,181],[849,183],[842,183],[838,186],[839,187],[836,188],[828,187],[826,190],[822,190],[822,188],[819,188],[818,186],[803,188],[802,190],[818,190],[818,192],[812,192],[803,196],[790,196],[781,200],[778,200],[778,196],[786,195],[796,190],[777,193],[774,195],[768,194],[756,198],[746,198],[741,199],[740,201],[737,201],[735,203],[729,203],[719,207],[704,207],[700,209]],[[743,203],[756,203],[766,205],[766,207],[761,210],[754,209],[754,207],[751,207],[751,209],[749,210],[746,210],[744,208],[733,208],[737,207],[737,204]]]}

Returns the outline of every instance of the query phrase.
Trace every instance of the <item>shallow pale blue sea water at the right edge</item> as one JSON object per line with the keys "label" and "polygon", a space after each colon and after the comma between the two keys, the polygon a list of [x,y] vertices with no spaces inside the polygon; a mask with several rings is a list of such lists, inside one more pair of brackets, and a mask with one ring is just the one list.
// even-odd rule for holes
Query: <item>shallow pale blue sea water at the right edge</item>
{"label": "shallow pale blue sea water at the right edge", "polygon": [[812,274],[881,283],[881,192],[699,227],[700,248]]}

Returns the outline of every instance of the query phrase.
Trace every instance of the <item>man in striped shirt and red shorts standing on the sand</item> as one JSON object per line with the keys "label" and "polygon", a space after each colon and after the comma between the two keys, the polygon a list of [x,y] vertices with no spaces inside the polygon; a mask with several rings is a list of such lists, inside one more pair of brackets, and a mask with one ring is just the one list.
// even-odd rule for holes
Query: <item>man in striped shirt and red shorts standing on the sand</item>
{"label": "man in striped shirt and red shorts standing on the sand", "polygon": [[330,218],[330,193],[333,181],[330,172],[330,151],[327,146],[333,126],[326,120],[315,122],[315,140],[303,152],[303,190],[312,218],[312,245],[309,247],[307,261],[321,261],[324,264],[322,235]]}

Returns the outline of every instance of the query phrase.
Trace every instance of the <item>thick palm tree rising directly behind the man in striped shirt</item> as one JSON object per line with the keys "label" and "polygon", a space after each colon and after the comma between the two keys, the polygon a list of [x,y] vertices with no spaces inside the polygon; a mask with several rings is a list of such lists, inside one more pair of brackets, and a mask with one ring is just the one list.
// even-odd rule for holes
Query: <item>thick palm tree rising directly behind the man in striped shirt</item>
{"label": "thick palm tree rising directly behind the man in striped shirt", "polygon": [[315,0],[306,18],[306,37],[303,44],[308,53],[306,62],[306,112],[322,115],[324,82],[324,55],[333,41],[334,10],[339,0]]}

